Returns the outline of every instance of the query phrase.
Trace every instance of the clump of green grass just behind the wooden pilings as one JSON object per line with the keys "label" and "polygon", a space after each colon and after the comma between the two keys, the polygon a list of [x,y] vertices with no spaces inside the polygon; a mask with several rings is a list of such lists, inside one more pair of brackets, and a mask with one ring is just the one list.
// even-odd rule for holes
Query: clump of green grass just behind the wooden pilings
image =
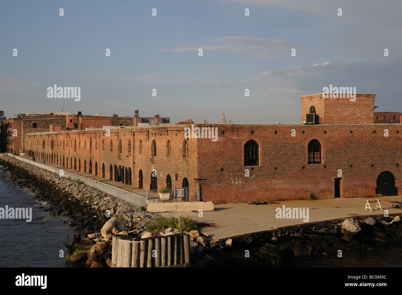
{"label": "clump of green grass just behind the wooden pilings", "polygon": [[177,225],[180,224],[180,227],[183,231],[193,231],[198,230],[197,222],[190,217],[162,217],[156,216],[152,220],[148,221],[145,225],[145,229],[149,232],[154,230],[163,230],[168,227],[177,228]]}

